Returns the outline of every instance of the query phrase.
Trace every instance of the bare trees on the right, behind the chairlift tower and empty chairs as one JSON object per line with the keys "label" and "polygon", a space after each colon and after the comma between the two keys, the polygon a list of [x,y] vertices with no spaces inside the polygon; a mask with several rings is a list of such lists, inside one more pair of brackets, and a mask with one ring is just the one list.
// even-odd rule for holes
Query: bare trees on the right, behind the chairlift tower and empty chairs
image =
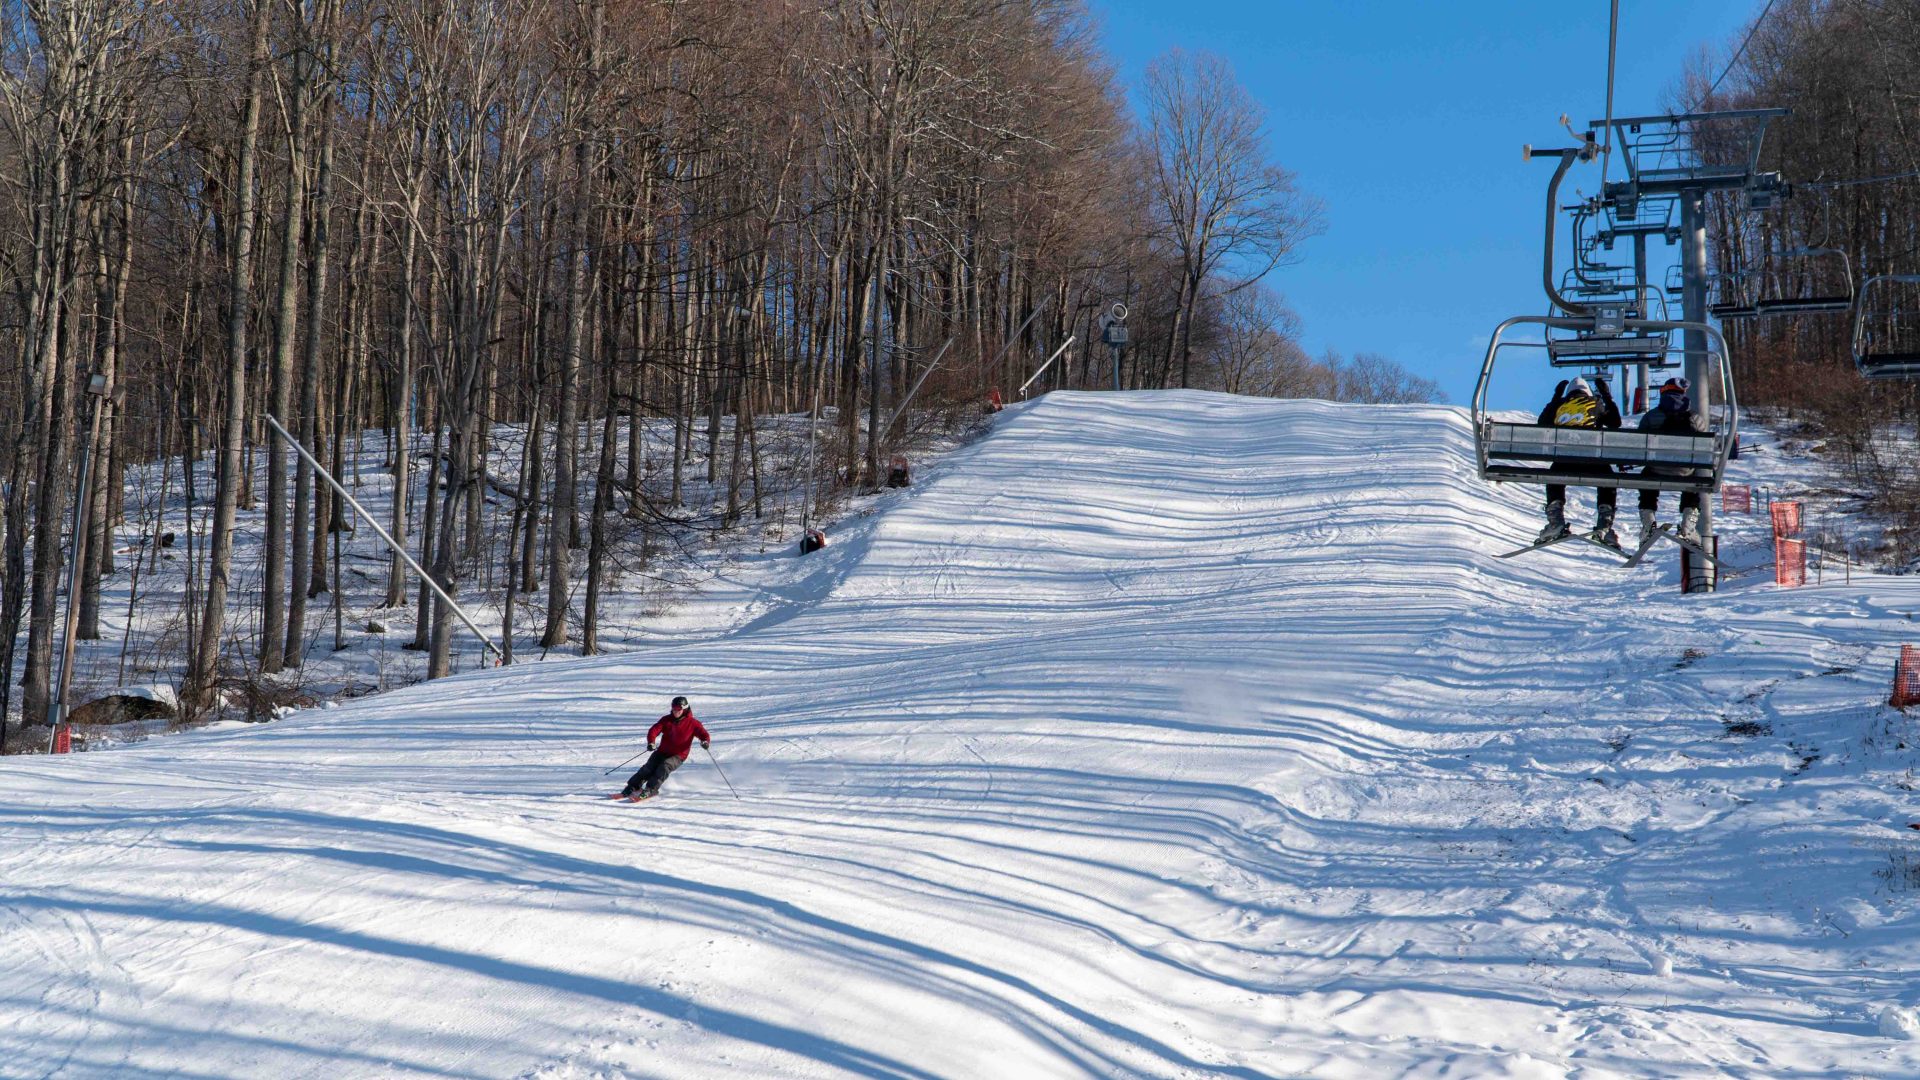
{"label": "bare trees on the right, behind the chairlift tower and empty chairs", "polygon": [[[1920,4],[1776,0],[1709,92],[1715,71],[1688,75],[1680,96],[1690,108],[1791,110],[1768,127],[1763,154],[1763,167],[1793,184],[1791,198],[1761,213],[1740,192],[1715,198],[1711,258],[1726,300],[1843,296],[1849,267],[1853,284],[1920,273]],[[1845,261],[1814,250],[1845,252]],[[1853,373],[1851,313],[1741,319],[1726,331],[1749,404],[1807,411],[1847,438],[1910,407],[1907,386]]]}

